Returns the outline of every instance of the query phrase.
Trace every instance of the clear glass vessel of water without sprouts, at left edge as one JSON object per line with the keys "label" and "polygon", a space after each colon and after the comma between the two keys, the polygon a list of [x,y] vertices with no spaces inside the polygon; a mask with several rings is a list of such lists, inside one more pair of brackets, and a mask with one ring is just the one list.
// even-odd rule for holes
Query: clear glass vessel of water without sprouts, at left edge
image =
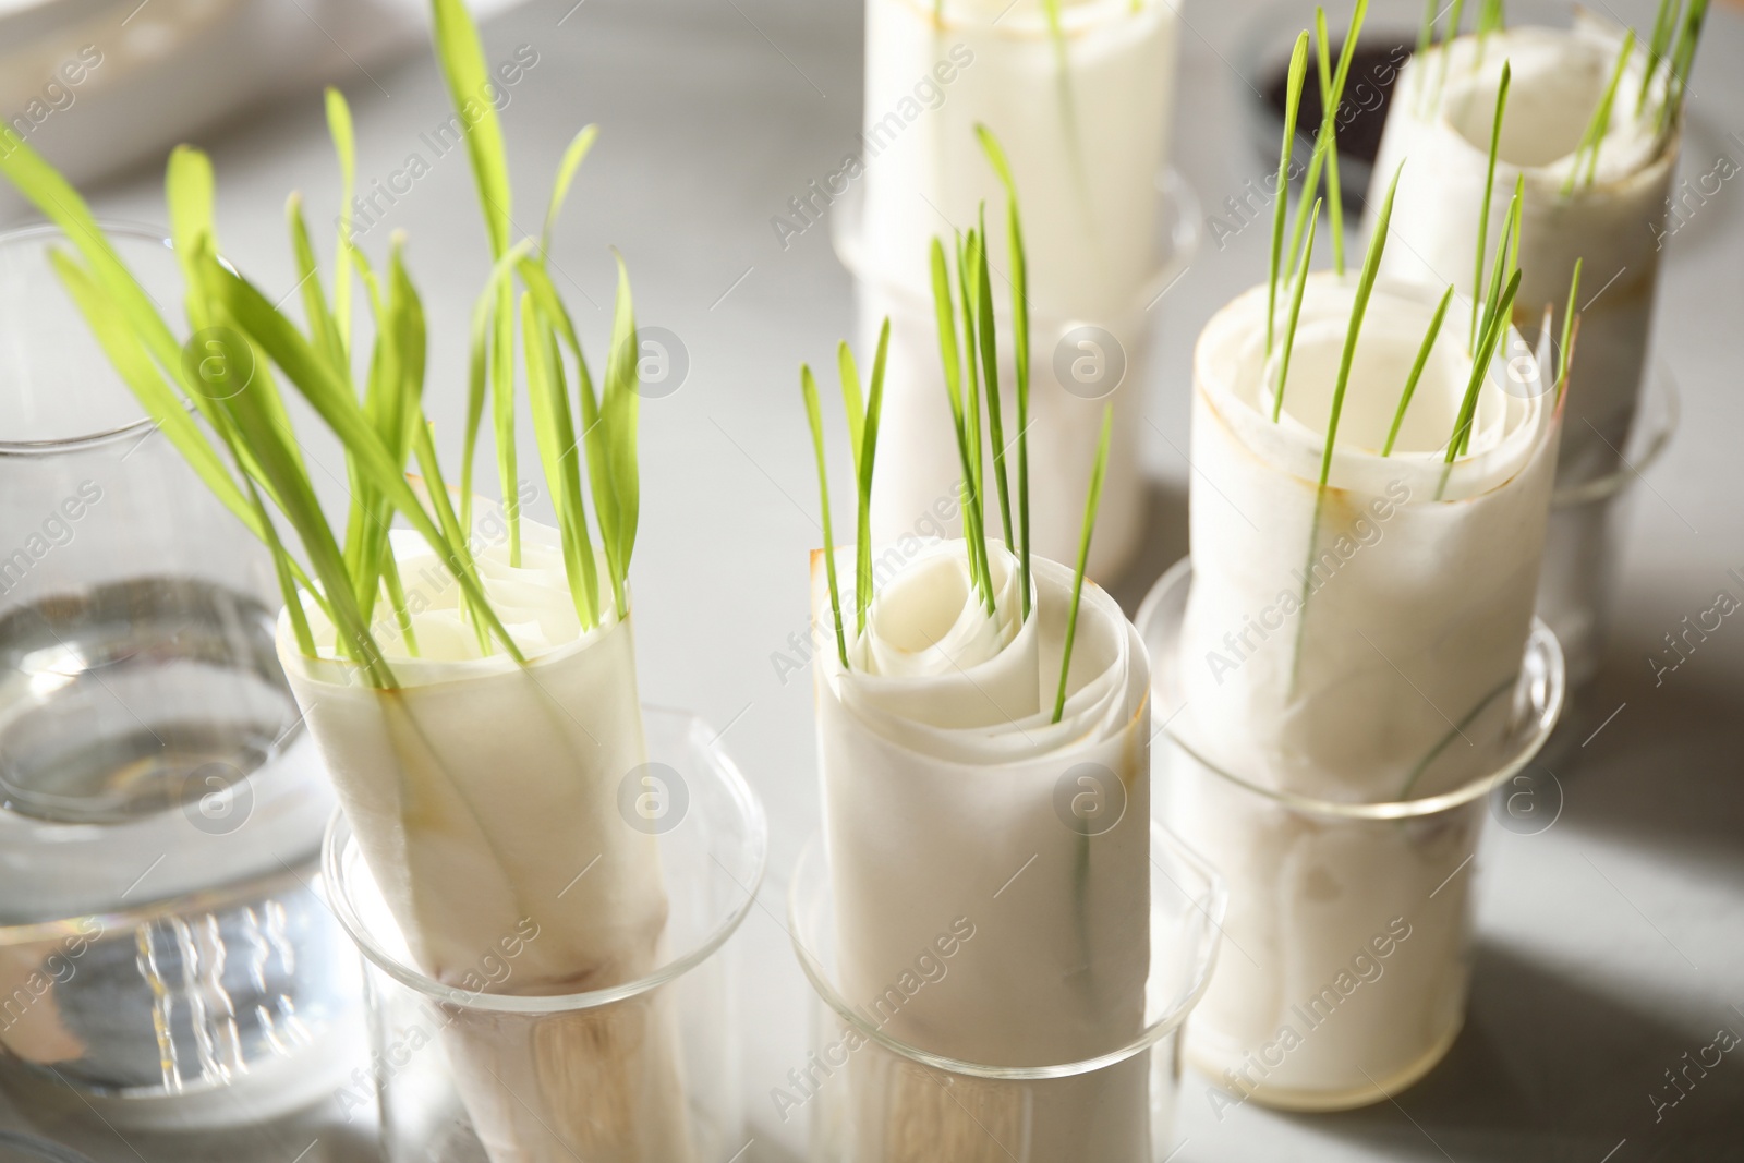
{"label": "clear glass vessel of water without sprouts, at left edge", "polygon": [[[180,326],[169,244],[108,232]],[[117,1126],[272,1118],[361,1046],[314,889],[331,790],[265,551],[143,417],[52,249],[0,235],[0,1071]]]}

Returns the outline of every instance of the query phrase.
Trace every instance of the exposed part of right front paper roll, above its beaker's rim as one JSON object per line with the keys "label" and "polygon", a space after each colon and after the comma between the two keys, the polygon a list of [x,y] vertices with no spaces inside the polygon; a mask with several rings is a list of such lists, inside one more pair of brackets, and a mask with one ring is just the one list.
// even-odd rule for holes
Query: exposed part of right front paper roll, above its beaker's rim
{"label": "exposed part of right front paper roll, above its beaker's rim", "polygon": [[[1498,354],[1467,453],[1446,460],[1472,375],[1454,300],[1383,457],[1435,298],[1381,286],[1322,495],[1353,295],[1350,279],[1310,275],[1277,422],[1266,288],[1200,335],[1193,464],[1216,490],[1189,497],[1179,734],[1252,783],[1378,802],[1495,758],[1531,628],[1559,408],[1535,359]],[[1517,333],[1507,350],[1521,350]]]}

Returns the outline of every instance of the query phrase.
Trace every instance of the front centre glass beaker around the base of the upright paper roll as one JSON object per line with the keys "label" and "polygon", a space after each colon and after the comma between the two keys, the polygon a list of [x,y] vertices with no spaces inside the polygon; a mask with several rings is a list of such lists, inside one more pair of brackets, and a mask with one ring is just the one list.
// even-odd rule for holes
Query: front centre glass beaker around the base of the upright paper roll
{"label": "front centre glass beaker around the base of the upright paper roll", "polygon": [[[1057,1163],[1060,1144],[1097,1163],[1170,1158],[1181,1146],[1181,1025],[1212,980],[1224,888],[1210,865],[1153,825],[1149,898],[1144,1027],[1132,1043],[1085,1062],[963,1062],[893,1037],[882,997],[844,996],[828,858],[821,835],[813,837],[788,889],[788,931],[816,994],[811,1053],[776,1095],[783,1116],[809,1116],[811,1163]],[[945,987],[949,956],[933,964],[942,973],[914,989]],[[1113,1114],[1118,1107],[1125,1118]],[[1113,1125],[1120,1130],[1109,1133]]]}

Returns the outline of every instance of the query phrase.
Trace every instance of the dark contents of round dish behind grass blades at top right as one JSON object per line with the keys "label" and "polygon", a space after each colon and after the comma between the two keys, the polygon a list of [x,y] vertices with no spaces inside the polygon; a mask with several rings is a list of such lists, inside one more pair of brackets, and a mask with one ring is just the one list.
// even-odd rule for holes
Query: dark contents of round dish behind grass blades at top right
{"label": "dark contents of round dish behind grass blades at top right", "polygon": [[[1332,66],[1338,68],[1338,54],[1343,44],[1329,49]],[[1364,195],[1369,188],[1369,176],[1374,169],[1374,155],[1381,148],[1381,129],[1386,126],[1386,106],[1392,101],[1393,85],[1399,82],[1399,70],[1411,59],[1409,44],[1380,44],[1367,40],[1357,45],[1350,61],[1350,77],[1345,80],[1345,94],[1338,106],[1338,176],[1345,199],[1345,213],[1359,216],[1366,206]],[[1284,138],[1284,98],[1289,87],[1289,59],[1266,61],[1257,77],[1263,99],[1249,92],[1249,129],[1254,145],[1261,148],[1266,160],[1266,173],[1273,173],[1278,164],[1278,143]],[[1308,56],[1308,78],[1303,84],[1301,113],[1296,119],[1296,153],[1298,171],[1291,181],[1301,190],[1303,171],[1313,153],[1313,139],[1320,129],[1320,73],[1315,65],[1313,49]],[[1324,187],[1322,187],[1324,188]]]}

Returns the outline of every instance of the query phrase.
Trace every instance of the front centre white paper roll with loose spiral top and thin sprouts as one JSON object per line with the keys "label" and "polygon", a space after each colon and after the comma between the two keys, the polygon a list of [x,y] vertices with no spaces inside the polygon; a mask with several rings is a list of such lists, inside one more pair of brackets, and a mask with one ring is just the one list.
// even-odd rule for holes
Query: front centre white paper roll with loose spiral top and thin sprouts
{"label": "front centre white paper roll with loose spiral top and thin sprouts", "polygon": [[[1120,607],[1087,584],[1066,711],[1052,722],[1073,572],[1036,558],[1025,619],[1017,558],[998,542],[989,554],[994,614],[961,541],[874,554],[879,593],[849,668],[832,650],[818,670],[841,989],[886,1034],[935,1055],[1076,1064],[1130,1044],[1146,1020],[1149,664]],[[823,560],[813,610],[828,624]],[[1067,800],[1120,800],[1118,823],[1073,826],[1062,788]],[[949,982],[884,1003],[940,931],[971,935]],[[1038,1160],[1149,1153],[1144,1053],[1031,1098],[987,1086],[950,1102],[888,1053],[855,1058],[849,1086],[858,1160],[991,1163],[1018,1142],[991,1128],[1024,1128]]]}

